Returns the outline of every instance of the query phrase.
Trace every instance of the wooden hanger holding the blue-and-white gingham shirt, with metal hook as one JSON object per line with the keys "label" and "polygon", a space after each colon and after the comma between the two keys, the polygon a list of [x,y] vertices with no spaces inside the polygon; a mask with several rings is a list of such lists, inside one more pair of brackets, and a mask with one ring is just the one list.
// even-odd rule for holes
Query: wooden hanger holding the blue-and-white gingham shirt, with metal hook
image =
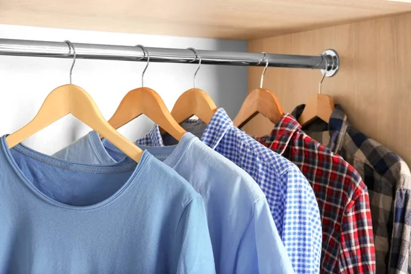
{"label": "wooden hanger holding the blue-and-white gingham shirt, with metal hook", "polygon": [[201,66],[201,56],[196,49],[192,47],[189,47],[188,49],[195,54],[195,59],[193,62],[195,62],[197,58],[199,59],[199,66],[197,66],[197,70],[195,71],[193,77],[194,88],[190,88],[180,95],[175,102],[173,110],[171,110],[171,115],[173,115],[177,123],[182,123],[183,121],[186,121],[186,119],[189,119],[195,115],[199,117],[201,121],[208,124],[210,123],[214,112],[216,112],[217,106],[207,92],[199,88],[195,88],[195,77],[197,76]]}

